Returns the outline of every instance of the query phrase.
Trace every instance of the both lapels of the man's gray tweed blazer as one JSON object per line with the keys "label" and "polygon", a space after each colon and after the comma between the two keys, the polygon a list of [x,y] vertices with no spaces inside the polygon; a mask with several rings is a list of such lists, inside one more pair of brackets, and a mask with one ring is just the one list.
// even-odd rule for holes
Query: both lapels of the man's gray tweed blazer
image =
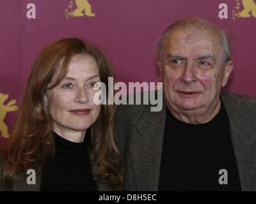
{"label": "both lapels of the man's gray tweed blazer", "polygon": [[[246,132],[241,113],[237,112],[234,100],[221,92],[230,123],[230,136],[236,157],[237,169],[242,191],[256,191],[256,154],[255,135]],[[136,121],[136,134],[131,141],[130,154],[136,186],[142,191],[157,191],[159,184],[161,155],[163,149],[164,128],[166,120],[166,104],[163,102],[161,112],[150,112],[148,108],[140,120]],[[248,135],[251,135],[248,137]]]}

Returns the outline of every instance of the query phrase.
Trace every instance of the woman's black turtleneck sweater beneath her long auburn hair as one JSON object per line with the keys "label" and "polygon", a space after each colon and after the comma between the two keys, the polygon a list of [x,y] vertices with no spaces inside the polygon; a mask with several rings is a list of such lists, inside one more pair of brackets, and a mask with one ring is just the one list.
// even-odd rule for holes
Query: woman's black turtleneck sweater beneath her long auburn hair
{"label": "woman's black turtleneck sweater beneath her long auburn hair", "polygon": [[84,141],[75,143],[54,133],[55,156],[42,171],[41,191],[97,191],[88,148],[89,131]]}

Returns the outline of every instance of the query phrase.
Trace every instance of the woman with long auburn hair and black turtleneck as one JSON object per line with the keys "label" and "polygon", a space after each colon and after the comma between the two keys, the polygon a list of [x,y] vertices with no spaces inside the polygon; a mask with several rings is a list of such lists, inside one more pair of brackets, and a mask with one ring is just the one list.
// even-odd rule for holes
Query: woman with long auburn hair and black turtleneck
{"label": "woman with long auburn hair and black turtleneck", "polygon": [[113,70],[106,56],[77,38],[55,41],[40,52],[1,152],[0,189],[120,189],[115,106],[93,103],[93,87],[103,82],[108,90],[108,77]]}

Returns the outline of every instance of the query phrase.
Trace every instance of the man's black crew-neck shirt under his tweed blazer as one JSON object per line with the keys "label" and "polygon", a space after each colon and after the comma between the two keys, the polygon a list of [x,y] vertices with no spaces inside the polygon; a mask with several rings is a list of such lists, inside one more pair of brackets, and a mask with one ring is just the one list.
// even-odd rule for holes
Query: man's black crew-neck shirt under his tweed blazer
{"label": "man's black crew-neck shirt under his tweed blazer", "polygon": [[159,191],[241,191],[223,103],[205,124],[181,122],[166,109]]}

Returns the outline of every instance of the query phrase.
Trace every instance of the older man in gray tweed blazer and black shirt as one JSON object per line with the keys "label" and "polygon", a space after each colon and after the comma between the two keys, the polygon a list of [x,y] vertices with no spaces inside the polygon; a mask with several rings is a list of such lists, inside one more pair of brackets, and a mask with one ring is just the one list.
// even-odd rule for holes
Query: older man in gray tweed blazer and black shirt
{"label": "older man in gray tweed blazer and black shirt", "polygon": [[117,108],[124,190],[255,191],[256,99],[221,91],[233,68],[225,32],[182,18],[161,36],[157,64],[163,110]]}

